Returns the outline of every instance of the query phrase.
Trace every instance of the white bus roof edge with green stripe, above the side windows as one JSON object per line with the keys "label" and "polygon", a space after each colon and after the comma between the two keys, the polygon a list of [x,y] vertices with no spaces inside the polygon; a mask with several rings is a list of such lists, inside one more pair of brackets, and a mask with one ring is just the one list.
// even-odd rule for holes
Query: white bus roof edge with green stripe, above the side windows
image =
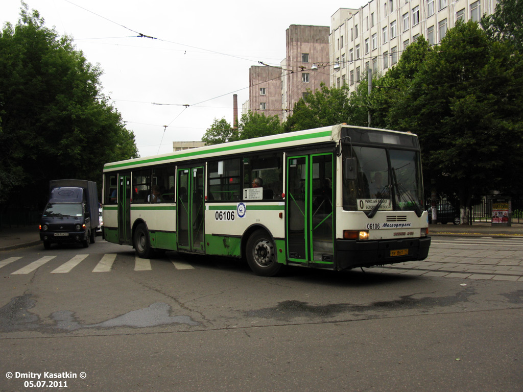
{"label": "white bus roof edge with green stripe, above the side windows", "polygon": [[[305,131],[296,131],[288,133],[280,133],[277,135],[270,135],[264,137],[255,137],[254,139],[240,140],[236,142],[228,142],[222,144],[215,144],[211,146],[196,147],[176,151],[161,155],[151,155],[142,158],[134,158],[128,160],[121,160],[119,162],[107,163],[104,165],[105,171],[113,171],[121,168],[133,168],[141,166],[157,165],[168,162],[177,162],[178,160],[211,158],[214,156],[222,156],[224,153],[246,153],[249,151],[263,151],[273,148],[285,148],[296,145],[316,144],[338,141],[340,139],[341,130],[343,128],[358,128],[371,130],[375,128],[366,128],[362,126],[338,124],[332,126],[324,126],[323,128],[309,129]],[[387,131],[391,133],[401,133],[397,131]],[[413,136],[415,136],[413,134]]]}

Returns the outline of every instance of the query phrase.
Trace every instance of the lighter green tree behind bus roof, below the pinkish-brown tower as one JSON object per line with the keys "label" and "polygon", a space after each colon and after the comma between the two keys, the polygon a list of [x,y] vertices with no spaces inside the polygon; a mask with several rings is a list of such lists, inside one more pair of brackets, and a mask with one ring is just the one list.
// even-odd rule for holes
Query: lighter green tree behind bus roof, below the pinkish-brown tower
{"label": "lighter green tree behind bus roof, below the pinkish-brown tower", "polygon": [[285,132],[347,122],[353,110],[349,105],[348,93],[346,85],[327,87],[323,83],[314,93],[309,91],[304,99],[295,103],[292,116],[284,125]]}

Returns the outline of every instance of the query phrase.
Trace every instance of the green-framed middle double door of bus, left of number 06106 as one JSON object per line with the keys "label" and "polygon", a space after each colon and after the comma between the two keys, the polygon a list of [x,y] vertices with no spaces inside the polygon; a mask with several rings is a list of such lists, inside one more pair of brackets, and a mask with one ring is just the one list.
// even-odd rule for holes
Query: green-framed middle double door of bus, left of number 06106
{"label": "green-framed middle double door of bus, left of number 06106", "polygon": [[203,167],[178,169],[176,232],[178,249],[205,252]]}

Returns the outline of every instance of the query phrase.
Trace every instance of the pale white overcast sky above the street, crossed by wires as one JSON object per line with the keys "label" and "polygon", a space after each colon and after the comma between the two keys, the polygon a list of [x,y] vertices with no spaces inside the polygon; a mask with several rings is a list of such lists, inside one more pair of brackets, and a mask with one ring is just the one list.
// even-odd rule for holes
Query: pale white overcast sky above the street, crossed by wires
{"label": "pale white overcast sky above the street, crossed by wires", "polygon": [[[71,36],[87,61],[99,64],[103,93],[134,132],[142,157],[172,151],[173,141],[201,140],[215,118],[232,124],[233,94],[241,114],[249,67],[280,64],[290,25],[330,27],[338,8],[366,3],[26,0],[46,27]],[[0,0],[2,25],[16,24],[20,7]]]}

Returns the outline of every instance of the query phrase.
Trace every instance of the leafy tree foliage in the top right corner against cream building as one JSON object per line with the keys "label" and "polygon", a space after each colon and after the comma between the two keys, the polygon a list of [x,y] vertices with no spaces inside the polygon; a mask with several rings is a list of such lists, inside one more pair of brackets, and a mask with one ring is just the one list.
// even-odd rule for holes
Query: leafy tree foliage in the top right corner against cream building
{"label": "leafy tree foliage in the top right corner against cream building", "polygon": [[489,37],[513,42],[523,54],[523,0],[499,0],[494,14],[484,15],[481,25]]}

